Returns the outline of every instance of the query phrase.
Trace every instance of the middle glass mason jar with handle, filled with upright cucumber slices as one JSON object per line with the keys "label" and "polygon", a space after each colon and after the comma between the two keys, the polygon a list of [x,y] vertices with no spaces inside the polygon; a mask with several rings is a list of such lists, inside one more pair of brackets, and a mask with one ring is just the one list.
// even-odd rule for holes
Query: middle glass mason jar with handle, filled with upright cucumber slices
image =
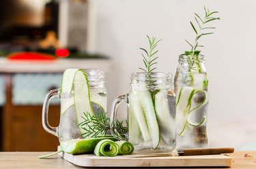
{"label": "middle glass mason jar with handle, filled with upright cucumber slices", "polygon": [[[171,73],[132,73],[131,90],[115,98],[110,117],[111,134],[128,140],[135,151],[175,149],[175,94]],[[117,132],[117,107],[128,105],[128,133]]]}

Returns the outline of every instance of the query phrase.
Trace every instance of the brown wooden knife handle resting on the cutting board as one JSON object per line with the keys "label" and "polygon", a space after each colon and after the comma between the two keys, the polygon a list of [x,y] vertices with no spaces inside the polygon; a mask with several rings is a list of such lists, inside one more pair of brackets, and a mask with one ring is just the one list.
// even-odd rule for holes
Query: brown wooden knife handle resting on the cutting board
{"label": "brown wooden knife handle resting on the cutting board", "polygon": [[221,153],[233,153],[233,147],[214,148],[214,149],[178,149],[179,155],[211,155]]}

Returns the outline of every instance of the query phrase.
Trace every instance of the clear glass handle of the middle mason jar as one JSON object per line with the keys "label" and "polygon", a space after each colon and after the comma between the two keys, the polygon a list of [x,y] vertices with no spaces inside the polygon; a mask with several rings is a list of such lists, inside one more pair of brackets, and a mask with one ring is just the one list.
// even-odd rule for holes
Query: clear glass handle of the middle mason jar
{"label": "clear glass handle of the middle mason jar", "polygon": [[124,136],[119,134],[119,132],[117,131],[117,128],[116,128],[117,108],[118,108],[119,104],[121,104],[122,102],[126,102],[126,104],[128,105],[128,94],[124,94],[124,95],[121,95],[121,96],[118,96],[117,98],[115,98],[112,108],[111,108],[111,115],[110,115],[111,134],[118,140],[125,140]]}

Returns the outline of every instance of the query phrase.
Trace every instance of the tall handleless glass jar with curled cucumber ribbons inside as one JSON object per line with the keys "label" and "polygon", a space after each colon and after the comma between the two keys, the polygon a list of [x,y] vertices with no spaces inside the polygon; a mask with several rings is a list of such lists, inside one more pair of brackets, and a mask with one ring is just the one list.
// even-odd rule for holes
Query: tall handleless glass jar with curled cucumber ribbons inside
{"label": "tall handleless glass jar with curled cucumber ribbons inside", "polygon": [[174,86],[177,148],[207,147],[208,77],[205,56],[180,55]]}

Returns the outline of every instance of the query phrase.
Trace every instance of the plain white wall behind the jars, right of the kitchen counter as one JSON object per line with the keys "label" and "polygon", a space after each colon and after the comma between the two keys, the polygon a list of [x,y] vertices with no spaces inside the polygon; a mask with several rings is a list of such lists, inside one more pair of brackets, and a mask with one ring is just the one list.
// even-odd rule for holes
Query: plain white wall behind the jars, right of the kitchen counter
{"label": "plain white wall behind the jars, right of the kitchen counter", "polygon": [[115,68],[107,77],[109,107],[115,96],[130,90],[130,73],[143,67],[139,48],[147,48],[146,35],[162,39],[157,71],[175,74],[179,54],[189,49],[184,39],[195,37],[189,22],[194,12],[203,14],[203,5],[221,17],[214,35],[201,41],[210,81],[209,145],[256,145],[253,0],[92,0],[91,50],[111,56]]}

